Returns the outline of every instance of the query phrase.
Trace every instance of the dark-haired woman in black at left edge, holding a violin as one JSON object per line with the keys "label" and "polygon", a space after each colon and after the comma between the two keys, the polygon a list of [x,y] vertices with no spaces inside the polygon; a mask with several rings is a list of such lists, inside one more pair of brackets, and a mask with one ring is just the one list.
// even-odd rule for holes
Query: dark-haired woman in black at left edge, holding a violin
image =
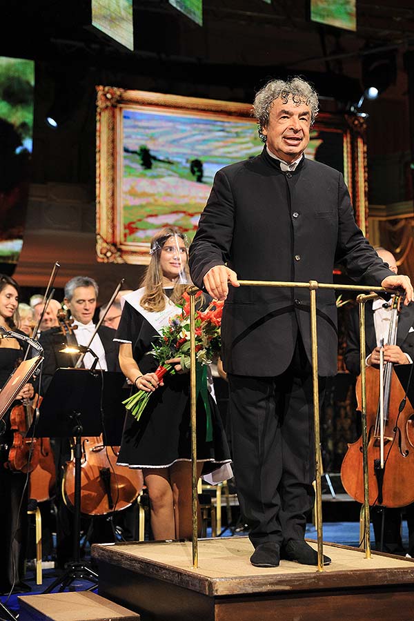
{"label": "dark-haired woman in black at left edge, holding a violin", "polygon": [[[17,323],[16,311],[19,304],[19,286],[10,276],[0,274],[0,325],[14,332]],[[23,359],[24,351],[17,339],[0,339],[0,389],[8,380],[10,373]],[[32,384],[23,386],[18,399],[33,396]],[[26,475],[14,473],[5,466],[8,449],[12,444],[10,431],[10,412],[3,418],[0,435],[0,593],[28,591],[21,584],[26,558],[27,484]]]}

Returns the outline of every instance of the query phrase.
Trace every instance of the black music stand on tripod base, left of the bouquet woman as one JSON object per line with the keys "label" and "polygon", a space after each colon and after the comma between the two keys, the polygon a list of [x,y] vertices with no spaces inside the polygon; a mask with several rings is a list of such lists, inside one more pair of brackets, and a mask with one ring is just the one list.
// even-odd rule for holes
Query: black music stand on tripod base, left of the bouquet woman
{"label": "black music stand on tripod base, left of the bouquet woman", "polygon": [[75,437],[73,561],[68,563],[63,575],[43,593],[51,593],[59,585],[59,591],[63,591],[79,578],[94,584],[98,581],[97,573],[81,562],[81,437],[100,435],[102,431],[104,374],[104,371],[89,371],[85,368],[58,368],[41,402],[39,419],[34,423],[36,437]]}

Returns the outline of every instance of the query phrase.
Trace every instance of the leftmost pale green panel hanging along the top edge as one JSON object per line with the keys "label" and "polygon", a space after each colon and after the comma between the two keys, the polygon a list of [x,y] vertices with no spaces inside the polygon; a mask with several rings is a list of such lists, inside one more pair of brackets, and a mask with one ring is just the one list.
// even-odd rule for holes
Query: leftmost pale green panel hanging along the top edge
{"label": "leftmost pale green panel hanging along the top edge", "polygon": [[132,0],[92,0],[92,26],[134,49]]}

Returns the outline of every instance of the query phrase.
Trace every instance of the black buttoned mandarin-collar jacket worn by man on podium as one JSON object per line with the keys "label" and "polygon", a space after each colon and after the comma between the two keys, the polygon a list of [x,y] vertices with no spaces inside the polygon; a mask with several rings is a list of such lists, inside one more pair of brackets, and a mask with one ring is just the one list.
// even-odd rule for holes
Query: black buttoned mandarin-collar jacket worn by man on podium
{"label": "black buttoned mandarin-collar jacket worn by man on podium", "polygon": [[[190,246],[193,282],[226,264],[239,279],[333,282],[340,262],[349,275],[380,285],[392,272],[355,224],[340,172],[302,159],[282,172],[266,152],[217,172]],[[221,326],[229,373],[273,376],[293,355],[299,330],[311,359],[309,292],[303,288],[230,286]],[[337,371],[337,312],[333,290],[317,292],[319,375]]]}

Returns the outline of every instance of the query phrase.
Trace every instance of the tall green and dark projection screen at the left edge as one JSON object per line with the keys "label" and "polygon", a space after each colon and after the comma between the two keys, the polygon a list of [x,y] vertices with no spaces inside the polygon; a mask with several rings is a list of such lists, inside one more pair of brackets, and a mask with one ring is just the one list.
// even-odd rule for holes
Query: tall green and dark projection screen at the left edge
{"label": "tall green and dark projection screen at the left edge", "polygon": [[33,61],[0,57],[0,263],[17,263],[23,245],[33,88]]}

